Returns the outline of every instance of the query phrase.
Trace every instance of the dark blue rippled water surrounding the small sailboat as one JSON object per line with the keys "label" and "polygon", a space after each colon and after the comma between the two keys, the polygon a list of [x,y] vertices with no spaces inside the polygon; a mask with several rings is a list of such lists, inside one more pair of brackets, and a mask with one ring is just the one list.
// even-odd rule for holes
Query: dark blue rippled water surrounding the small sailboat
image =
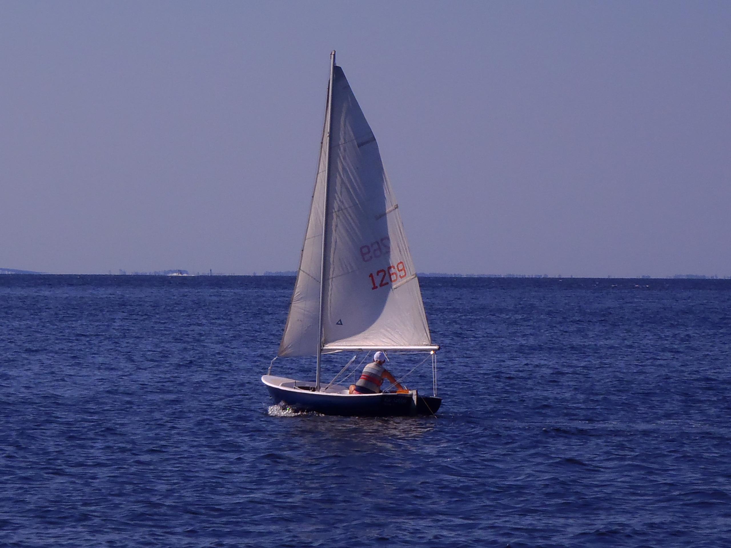
{"label": "dark blue rippled water surrounding the small sailboat", "polygon": [[0,545],[731,539],[731,281],[425,278],[401,419],[270,412],[292,283],[0,276]]}

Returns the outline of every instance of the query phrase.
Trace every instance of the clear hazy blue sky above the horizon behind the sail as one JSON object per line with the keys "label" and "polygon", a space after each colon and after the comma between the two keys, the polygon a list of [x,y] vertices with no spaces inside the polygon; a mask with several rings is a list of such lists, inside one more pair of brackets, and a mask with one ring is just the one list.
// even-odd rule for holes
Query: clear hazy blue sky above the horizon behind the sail
{"label": "clear hazy blue sky above the horizon behind the sail", "polygon": [[3,2],[0,267],[294,270],[330,50],[417,269],[731,275],[731,4]]}

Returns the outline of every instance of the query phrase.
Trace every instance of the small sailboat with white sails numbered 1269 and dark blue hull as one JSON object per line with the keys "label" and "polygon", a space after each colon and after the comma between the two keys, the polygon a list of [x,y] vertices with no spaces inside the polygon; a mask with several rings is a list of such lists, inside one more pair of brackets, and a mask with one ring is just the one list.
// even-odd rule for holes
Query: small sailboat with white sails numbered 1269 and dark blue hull
{"label": "small sailboat with white sails numbered 1269 and dark blue hull", "polygon": [[[330,53],[325,123],[300,265],[279,357],[316,357],[314,381],[262,376],[275,403],[342,416],[436,414],[436,346],[398,203],[343,69]],[[415,389],[350,394],[325,385],[322,354],[425,352],[433,395]],[[353,360],[351,360],[352,362]],[[342,373],[342,371],[341,371]],[[393,373],[393,372],[392,372]],[[396,375],[398,376],[398,375]]]}

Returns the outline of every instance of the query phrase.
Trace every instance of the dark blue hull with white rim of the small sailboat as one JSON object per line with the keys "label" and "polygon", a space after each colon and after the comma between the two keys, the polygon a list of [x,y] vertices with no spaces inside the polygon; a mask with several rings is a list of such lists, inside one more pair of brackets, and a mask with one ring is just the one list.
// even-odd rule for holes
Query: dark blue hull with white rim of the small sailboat
{"label": "dark blue hull with white rim of the small sailboat", "polygon": [[439,397],[423,397],[411,393],[344,395],[314,392],[306,385],[295,388],[279,387],[268,381],[271,378],[265,376],[262,381],[274,402],[284,403],[295,411],[314,411],[339,416],[414,416],[436,414],[442,404]]}

